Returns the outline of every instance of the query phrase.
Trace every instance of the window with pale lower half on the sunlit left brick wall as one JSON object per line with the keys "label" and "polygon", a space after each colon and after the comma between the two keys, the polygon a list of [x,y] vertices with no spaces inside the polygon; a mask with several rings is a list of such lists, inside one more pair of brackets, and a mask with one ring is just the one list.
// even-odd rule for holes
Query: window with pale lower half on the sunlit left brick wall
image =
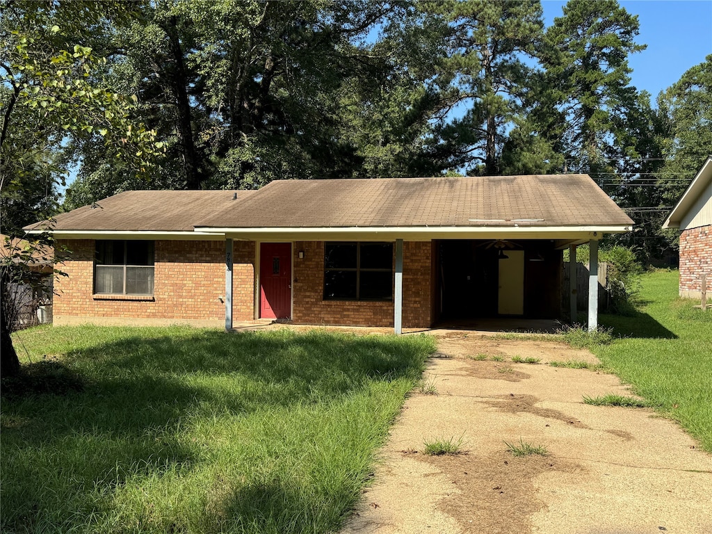
{"label": "window with pale lower half on the sunlit left brick wall", "polygon": [[95,293],[153,294],[153,241],[97,241]]}

